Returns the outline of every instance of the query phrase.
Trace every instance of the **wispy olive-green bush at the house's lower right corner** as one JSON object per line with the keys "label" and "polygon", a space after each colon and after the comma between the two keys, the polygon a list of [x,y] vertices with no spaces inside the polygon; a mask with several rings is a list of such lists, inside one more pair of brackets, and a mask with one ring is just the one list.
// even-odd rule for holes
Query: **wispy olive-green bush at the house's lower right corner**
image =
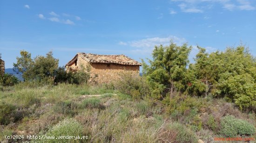
{"label": "wispy olive-green bush at the house's lower right corner", "polygon": [[140,99],[149,94],[149,87],[146,80],[132,73],[121,73],[120,80],[114,86],[121,93],[129,94],[133,99]]}

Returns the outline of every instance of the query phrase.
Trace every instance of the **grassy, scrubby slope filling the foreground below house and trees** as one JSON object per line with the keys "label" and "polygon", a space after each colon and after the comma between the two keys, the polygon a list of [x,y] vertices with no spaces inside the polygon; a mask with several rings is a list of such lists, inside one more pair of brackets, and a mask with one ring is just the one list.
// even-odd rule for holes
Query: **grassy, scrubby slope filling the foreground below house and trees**
{"label": "grassy, scrubby slope filling the foreground below house and trees", "polygon": [[[4,87],[0,92],[0,140],[5,135],[85,136],[73,143],[195,143],[202,139],[211,143],[223,137],[222,118],[233,115],[246,124],[256,125],[255,114],[240,112],[223,99],[181,96],[175,107],[148,99],[133,99],[111,86],[36,86],[25,84]],[[32,85],[30,85],[32,86]],[[92,96],[88,96],[92,95]],[[96,96],[94,96],[96,95]],[[169,113],[170,110],[175,112]],[[253,128],[251,128],[253,129]],[[228,129],[231,133],[236,133]],[[242,129],[241,129],[242,130]],[[236,135],[255,137],[255,135]],[[56,142],[54,139],[32,142]]]}

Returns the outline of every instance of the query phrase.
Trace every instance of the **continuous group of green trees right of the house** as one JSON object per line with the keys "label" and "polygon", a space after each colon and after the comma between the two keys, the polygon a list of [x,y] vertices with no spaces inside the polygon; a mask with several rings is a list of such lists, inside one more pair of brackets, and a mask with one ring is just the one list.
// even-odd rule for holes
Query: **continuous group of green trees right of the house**
{"label": "continuous group of green trees right of the house", "polygon": [[197,48],[195,63],[189,64],[191,46],[173,42],[155,46],[149,64],[142,60],[151,97],[171,99],[176,93],[211,95],[234,102],[241,110],[256,110],[256,58],[249,49],[239,45],[207,53],[204,48]]}

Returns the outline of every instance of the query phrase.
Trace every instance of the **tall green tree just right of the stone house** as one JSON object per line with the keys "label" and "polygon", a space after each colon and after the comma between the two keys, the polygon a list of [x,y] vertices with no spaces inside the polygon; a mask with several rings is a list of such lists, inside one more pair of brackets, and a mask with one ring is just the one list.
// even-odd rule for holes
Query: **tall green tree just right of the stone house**
{"label": "tall green tree just right of the stone house", "polygon": [[147,76],[153,97],[160,99],[168,92],[173,97],[175,90],[185,91],[191,49],[187,44],[178,46],[171,41],[169,46],[155,46],[153,60],[148,59],[149,65],[142,60],[143,74]]}

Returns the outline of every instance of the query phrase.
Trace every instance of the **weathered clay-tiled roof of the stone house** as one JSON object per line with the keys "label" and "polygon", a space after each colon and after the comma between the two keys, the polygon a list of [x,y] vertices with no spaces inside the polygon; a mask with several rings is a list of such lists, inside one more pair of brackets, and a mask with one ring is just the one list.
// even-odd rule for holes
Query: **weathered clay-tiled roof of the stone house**
{"label": "weathered clay-tiled roof of the stone house", "polygon": [[[129,58],[124,55],[97,55],[97,54],[87,54],[87,53],[78,53],[71,61],[74,61],[75,58],[81,56],[82,59],[90,63],[116,63],[122,65],[137,65],[141,66],[141,63]],[[67,64],[68,64],[67,63]]]}

